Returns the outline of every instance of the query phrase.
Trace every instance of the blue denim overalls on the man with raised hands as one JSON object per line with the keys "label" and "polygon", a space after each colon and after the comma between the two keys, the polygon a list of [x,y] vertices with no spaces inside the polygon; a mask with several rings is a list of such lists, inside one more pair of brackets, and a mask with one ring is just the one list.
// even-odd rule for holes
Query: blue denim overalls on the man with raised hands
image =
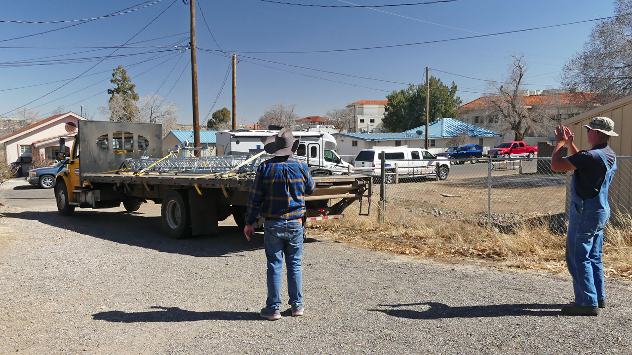
{"label": "blue denim overalls on the man with raised hands", "polygon": [[566,235],[566,263],[573,277],[575,302],[581,306],[597,306],[605,299],[602,248],[604,227],[610,218],[608,189],[617,169],[616,159],[608,166],[605,155],[595,150],[605,164],[605,178],[599,195],[583,200],[575,190],[575,176],[571,181],[571,206]]}

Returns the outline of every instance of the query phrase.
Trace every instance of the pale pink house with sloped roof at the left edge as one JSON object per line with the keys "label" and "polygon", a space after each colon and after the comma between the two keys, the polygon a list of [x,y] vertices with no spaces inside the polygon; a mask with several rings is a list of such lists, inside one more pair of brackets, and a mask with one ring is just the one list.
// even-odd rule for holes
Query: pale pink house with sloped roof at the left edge
{"label": "pale pink house with sloped roof at the left edge", "polygon": [[66,146],[72,146],[79,121],[85,118],[73,112],[56,114],[0,138],[8,163],[20,163],[22,172],[30,167],[31,157],[43,154],[59,159],[59,137],[66,137]]}

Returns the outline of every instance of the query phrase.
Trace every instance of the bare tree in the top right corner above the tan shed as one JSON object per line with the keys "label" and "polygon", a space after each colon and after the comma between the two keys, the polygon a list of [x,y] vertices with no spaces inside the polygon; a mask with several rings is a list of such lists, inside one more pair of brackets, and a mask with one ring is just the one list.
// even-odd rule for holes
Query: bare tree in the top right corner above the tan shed
{"label": "bare tree in the top right corner above the tan shed", "polygon": [[[615,0],[614,18],[593,27],[583,51],[564,64],[560,79],[569,88],[616,95],[632,94],[632,1]],[[598,97],[615,100],[612,95]],[[605,102],[600,102],[605,103]]]}

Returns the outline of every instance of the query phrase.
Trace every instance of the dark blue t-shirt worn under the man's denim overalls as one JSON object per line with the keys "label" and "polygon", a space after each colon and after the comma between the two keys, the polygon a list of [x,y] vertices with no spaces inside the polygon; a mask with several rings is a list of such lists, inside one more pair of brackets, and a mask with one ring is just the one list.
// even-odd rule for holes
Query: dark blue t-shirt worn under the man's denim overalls
{"label": "dark blue t-shirt worn under the man's denim overalls", "polygon": [[583,200],[599,195],[601,185],[604,183],[606,169],[604,160],[595,152],[597,149],[604,153],[609,167],[612,167],[617,155],[607,143],[595,145],[592,149],[580,150],[568,157],[568,161],[576,168],[575,193]]}

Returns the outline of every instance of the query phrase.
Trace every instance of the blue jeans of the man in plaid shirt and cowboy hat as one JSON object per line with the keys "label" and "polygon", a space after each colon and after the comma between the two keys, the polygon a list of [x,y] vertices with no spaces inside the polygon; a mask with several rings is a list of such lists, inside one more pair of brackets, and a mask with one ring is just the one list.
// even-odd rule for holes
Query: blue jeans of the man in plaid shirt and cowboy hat
{"label": "blue jeans of the man in plaid shirt and cowboy hat", "polygon": [[266,308],[281,306],[281,271],[283,255],[288,268],[289,304],[303,303],[303,224],[300,220],[265,220],[265,257],[268,262],[268,298]]}

